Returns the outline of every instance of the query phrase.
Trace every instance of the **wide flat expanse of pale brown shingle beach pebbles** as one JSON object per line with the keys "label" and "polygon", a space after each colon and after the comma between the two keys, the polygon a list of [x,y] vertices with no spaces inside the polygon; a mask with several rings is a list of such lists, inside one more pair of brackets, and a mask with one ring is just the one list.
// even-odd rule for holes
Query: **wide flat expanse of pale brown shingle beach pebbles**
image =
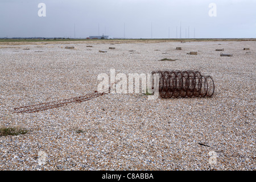
{"label": "wide flat expanse of pale brown shingle beach pebbles", "polygon": [[[222,48],[233,56],[220,56],[215,49]],[[0,170],[255,170],[255,60],[255,41],[1,43],[0,127],[28,133],[0,137]],[[13,113],[92,93],[110,69],[199,69],[213,77],[215,93],[158,100],[106,94]]]}

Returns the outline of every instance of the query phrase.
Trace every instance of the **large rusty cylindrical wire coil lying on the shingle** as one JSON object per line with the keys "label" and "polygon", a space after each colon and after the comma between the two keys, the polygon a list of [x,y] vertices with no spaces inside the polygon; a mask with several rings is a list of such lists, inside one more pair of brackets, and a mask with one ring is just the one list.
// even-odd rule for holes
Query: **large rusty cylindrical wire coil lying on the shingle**
{"label": "large rusty cylindrical wire coil lying on the shingle", "polygon": [[[211,76],[204,76],[199,71],[153,71],[159,76],[159,96],[172,97],[212,97],[214,93],[214,81]],[[154,86],[152,86],[154,89]]]}

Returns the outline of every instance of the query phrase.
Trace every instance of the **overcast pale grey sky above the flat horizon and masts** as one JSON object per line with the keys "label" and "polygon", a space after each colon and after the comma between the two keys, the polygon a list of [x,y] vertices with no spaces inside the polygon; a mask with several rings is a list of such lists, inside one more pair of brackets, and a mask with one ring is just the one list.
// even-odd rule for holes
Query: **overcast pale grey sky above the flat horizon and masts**
{"label": "overcast pale grey sky above the flat horizon and masts", "polygon": [[0,0],[0,23],[1,38],[86,38],[99,29],[113,38],[180,38],[180,24],[181,38],[256,38],[256,0]]}

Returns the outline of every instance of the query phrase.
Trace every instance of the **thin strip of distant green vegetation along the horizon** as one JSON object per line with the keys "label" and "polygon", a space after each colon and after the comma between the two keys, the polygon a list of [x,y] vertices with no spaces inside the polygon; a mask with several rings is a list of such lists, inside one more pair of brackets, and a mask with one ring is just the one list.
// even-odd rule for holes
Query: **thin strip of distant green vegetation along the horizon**
{"label": "thin strip of distant green vegetation along the horizon", "polygon": [[256,38],[190,38],[190,39],[74,39],[74,38],[0,38],[0,42],[63,42],[63,41],[108,41],[108,40],[157,40],[170,42],[200,41],[255,41]]}

